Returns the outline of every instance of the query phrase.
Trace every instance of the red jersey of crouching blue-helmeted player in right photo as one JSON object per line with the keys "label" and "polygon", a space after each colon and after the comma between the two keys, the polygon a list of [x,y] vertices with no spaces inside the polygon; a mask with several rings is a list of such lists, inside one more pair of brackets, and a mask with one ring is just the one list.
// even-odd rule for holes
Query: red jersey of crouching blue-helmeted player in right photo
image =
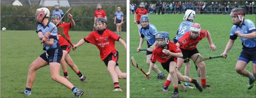
{"label": "red jersey of crouching blue-helmeted player in right photo", "polygon": [[[151,56],[151,62],[158,61],[160,63],[166,63],[170,58],[176,58],[171,55],[166,55],[162,52],[162,50],[162,47],[159,47],[158,45],[156,46]],[[181,53],[181,49],[179,49],[179,47],[172,41],[169,41],[167,50],[169,50],[172,53]]]}

